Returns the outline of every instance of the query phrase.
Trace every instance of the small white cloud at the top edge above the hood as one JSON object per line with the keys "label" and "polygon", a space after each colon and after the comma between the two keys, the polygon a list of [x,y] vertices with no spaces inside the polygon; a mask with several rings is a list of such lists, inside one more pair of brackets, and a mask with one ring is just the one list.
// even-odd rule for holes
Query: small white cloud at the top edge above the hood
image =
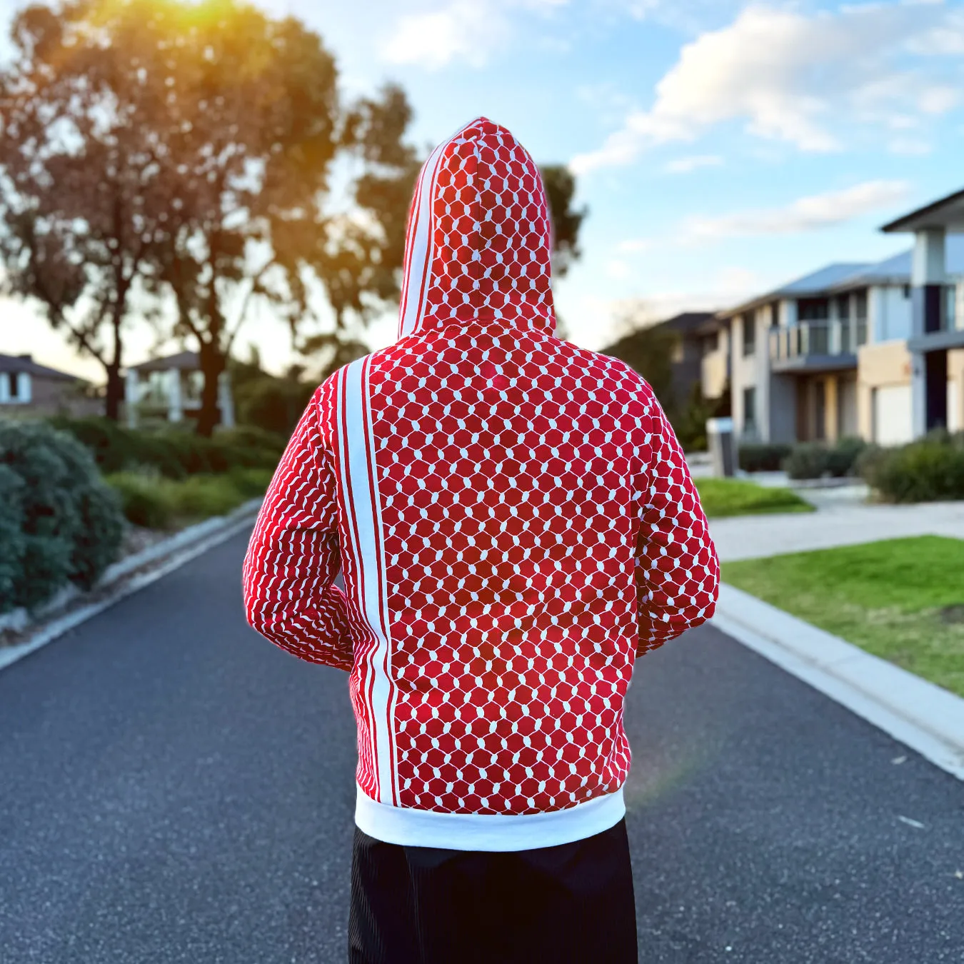
{"label": "small white cloud at the top edge above the hood", "polygon": [[454,0],[437,10],[399,17],[382,45],[392,64],[417,64],[428,69],[462,60],[482,67],[512,37],[511,14],[547,15],[569,0]]}

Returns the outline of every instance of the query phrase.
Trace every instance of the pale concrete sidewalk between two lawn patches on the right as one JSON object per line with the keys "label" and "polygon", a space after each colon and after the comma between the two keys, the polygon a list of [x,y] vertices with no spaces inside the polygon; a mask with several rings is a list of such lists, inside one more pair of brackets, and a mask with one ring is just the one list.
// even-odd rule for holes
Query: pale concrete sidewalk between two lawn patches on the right
{"label": "pale concrete sidewalk between two lawn patches on the right", "polygon": [[938,535],[964,539],[964,501],[854,505],[846,498],[827,499],[821,501],[817,512],[806,515],[736,516],[710,520],[710,531],[723,562],[852,546],[901,536]]}

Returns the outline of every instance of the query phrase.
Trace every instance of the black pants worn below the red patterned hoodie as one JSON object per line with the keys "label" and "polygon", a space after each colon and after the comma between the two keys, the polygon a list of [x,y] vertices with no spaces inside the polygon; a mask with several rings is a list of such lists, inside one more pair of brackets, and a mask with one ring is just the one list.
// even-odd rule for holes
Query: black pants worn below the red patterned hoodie
{"label": "black pants worn below the red patterned hoodie", "polygon": [[636,964],[626,823],[489,853],[355,830],[350,964]]}

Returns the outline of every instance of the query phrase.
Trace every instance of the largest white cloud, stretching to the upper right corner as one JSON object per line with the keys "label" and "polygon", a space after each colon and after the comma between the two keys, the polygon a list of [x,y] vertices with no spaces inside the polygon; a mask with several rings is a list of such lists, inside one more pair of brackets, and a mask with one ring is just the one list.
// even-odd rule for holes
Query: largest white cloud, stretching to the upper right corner
{"label": "largest white cloud, stretching to the upper right corner", "polygon": [[958,95],[936,55],[956,52],[958,39],[964,43],[961,19],[940,0],[810,16],[752,6],[684,45],[652,108],[629,112],[571,167],[583,174],[629,164],[649,147],[694,141],[728,120],[801,150],[836,150],[855,122],[950,110]]}

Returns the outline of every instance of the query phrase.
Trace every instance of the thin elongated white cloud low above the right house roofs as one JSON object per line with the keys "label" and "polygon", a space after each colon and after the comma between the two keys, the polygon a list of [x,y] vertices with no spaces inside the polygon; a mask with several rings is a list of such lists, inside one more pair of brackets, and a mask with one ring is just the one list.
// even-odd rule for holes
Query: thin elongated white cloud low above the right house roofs
{"label": "thin elongated white cloud low above the right house roofs", "polygon": [[800,198],[783,207],[751,208],[714,218],[687,218],[679,238],[683,243],[694,243],[829,228],[901,201],[906,194],[907,184],[904,181],[865,181],[843,191],[827,191]]}

